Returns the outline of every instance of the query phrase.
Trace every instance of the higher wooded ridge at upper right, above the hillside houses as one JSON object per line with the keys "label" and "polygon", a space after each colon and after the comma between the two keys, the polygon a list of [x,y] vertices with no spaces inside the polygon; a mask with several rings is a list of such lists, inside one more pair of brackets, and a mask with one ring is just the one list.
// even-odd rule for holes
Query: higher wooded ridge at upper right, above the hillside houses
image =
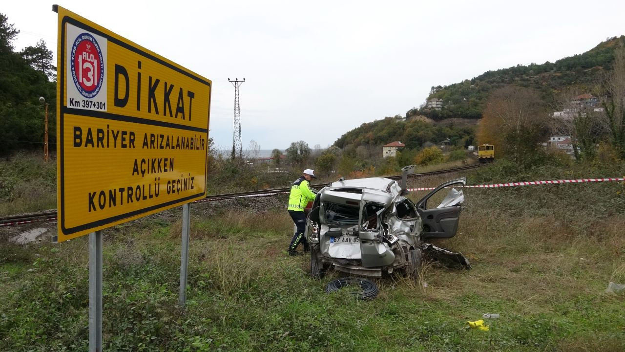
{"label": "higher wooded ridge at upper right, above the hillside houses", "polygon": [[444,118],[481,118],[486,100],[492,91],[514,84],[539,91],[542,100],[552,103],[562,88],[577,86],[591,92],[602,73],[612,69],[614,49],[625,44],[625,36],[600,43],[586,53],[541,65],[516,65],[496,71],[487,71],[471,80],[449,86],[432,86],[427,100],[442,99],[441,110],[412,108],[406,116],[425,115],[433,120]]}

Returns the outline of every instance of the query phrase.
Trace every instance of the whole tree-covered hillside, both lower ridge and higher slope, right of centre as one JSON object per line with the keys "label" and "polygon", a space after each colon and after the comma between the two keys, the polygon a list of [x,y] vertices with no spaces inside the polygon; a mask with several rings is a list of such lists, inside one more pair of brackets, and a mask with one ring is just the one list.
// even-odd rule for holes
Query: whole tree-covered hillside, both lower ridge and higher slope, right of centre
{"label": "whole tree-covered hillside, both lower ridge and higher slope, right of centre", "polygon": [[[424,122],[422,116],[441,121],[449,118],[479,119],[492,92],[507,85],[532,88],[547,106],[557,105],[557,95],[566,87],[576,86],[579,91],[592,93],[606,71],[612,70],[614,49],[625,44],[625,36],[614,37],[600,43],[583,54],[547,61],[541,65],[517,65],[496,71],[487,71],[471,80],[449,86],[432,86],[427,99],[442,99],[441,110],[422,106],[412,108],[406,118],[395,116],[371,123],[363,123],[334,142],[339,148],[348,145],[384,145],[394,140],[406,143],[406,148],[421,148],[426,142],[438,143],[445,138],[457,147],[474,142],[470,125]],[[421,116],[421,117],[417,117]]]}

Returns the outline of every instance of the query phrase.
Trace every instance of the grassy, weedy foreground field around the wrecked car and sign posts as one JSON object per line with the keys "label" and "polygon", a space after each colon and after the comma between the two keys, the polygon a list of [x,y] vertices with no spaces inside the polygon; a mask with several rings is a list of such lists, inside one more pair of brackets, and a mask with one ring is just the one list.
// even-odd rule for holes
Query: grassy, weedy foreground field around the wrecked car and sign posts
{"label": "grassy, weedy foreground field around the wrecked car and sign posts", "polygon": [[[497,165],[469,180],[526,177],[491,167]],[[583,170],[527,174],[559,172]],[[314,280],[309,257],[286,255],[292,222],[282,209],[209,212],[194,205],[184,311],[176,306],[179,220],[146,218],[105,230],[104,349],[625,350],[625,296],[604,292],[607,282],[625,281],[625,212],[616,194],[622,185],[541,187],[466,189],[457,236],[436,244],[461,251],[473,269],[432,262],[419,281],[399,273],[375,279],[381,292],[373,301],[326,294],[324,284],[342,274]],[[0,350],[86,349],[86,244],[80,237],[0,251]],[[466,321],[483,313],[501,318],[487,321],[490,331],[469,329]]]}

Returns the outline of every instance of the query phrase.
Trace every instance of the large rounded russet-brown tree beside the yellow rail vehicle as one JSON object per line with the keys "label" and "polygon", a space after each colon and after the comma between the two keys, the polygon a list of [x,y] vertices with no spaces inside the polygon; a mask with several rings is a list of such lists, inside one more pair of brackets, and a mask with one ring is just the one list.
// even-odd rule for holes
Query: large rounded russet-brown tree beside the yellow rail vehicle
{"label": "large rounded russet-brown tree beside the yellow rail vehicle", "polygon": [[519,86],[505,86],[489,98],[477,128],[477,142],[495,146],[497,155],[529,165],[544,154],[547,107],[539,94]]}

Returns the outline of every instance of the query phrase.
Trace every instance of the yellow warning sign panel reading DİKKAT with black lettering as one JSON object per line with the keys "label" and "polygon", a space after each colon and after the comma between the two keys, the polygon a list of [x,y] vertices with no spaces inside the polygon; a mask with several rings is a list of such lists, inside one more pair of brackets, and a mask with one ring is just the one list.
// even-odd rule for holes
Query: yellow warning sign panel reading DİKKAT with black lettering
{"label": "yellow warning sign panel reading D\u0130KKAT with black lettering", "polygon": [[204,197],[211,81],[57,12],[58,241]]}

